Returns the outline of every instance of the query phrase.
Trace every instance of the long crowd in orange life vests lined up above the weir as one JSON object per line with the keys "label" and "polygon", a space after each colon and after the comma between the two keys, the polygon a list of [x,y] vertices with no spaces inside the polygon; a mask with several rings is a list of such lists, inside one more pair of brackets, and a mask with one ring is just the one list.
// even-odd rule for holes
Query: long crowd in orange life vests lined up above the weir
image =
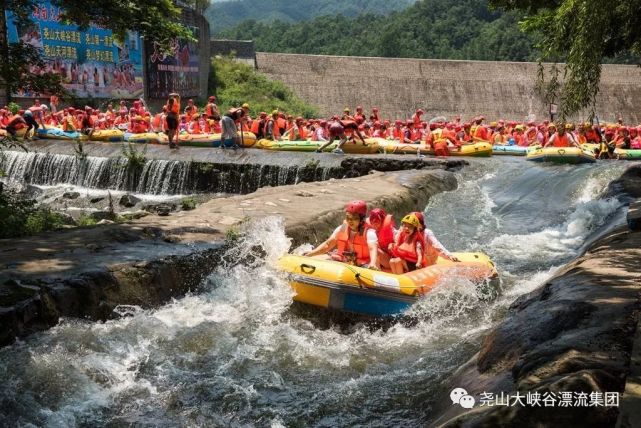
{"label": "long crowd in orange life vests lined up above the weir", "polygon": [[[252,132],[257,139],[311,140],[319,142],[318,151],[338,141],[335,152],[347,141],[367,144],[367,138],[397,140],[406,144],[431,146],[435,154],[448,156],[452,150],[460,150],[465,144],[488,142],[493,145],[516,146],[580,146],[598,144],[601,157],[612,157],[615,148],[641,149],[641,126],[626,126],[622,120],[615,124],[599,125],[585,123],[553,123],[544,120],[517,122],[498,120],[486,123],[484,116],[476,116],[462,122],[460,116],[452,120],[434,118],[426,121],[424,111],[417,109],[411,118],[401,120],[382,119],[374,107],[369,115],[362,106],[352,113],[345,108],[342,115],[328,119],[305,119],[287,115],[282,111],[260,112],[250,116],[250,106],[245,103],[221,114],[216,97],[210,96],[207,104],[199,108],[192,99],[181,106],[178,94],[170,94],[162,110],[152,114],[143,100],[126,101],[119,105],[107,105],[105,111],[91,107],[81,109],[68,107],[57,110],[58,100],[52,97],[50,107],[35,100],[34,104],[17,114],[10,114],[5,107],[0,109],[0,128],[15,134],[26,127],[28,131],[39,126],[58,126],[63,131],[78,131],[91,135],[94,130],[120,129],[133,134],[162,132],[168,135],[171,148],[177,148],[175,135],[223,134],[232,147],[238,147],[237,132]],[[30,135],[27,132],[27,135]],[[229,144],[228,144],[229,146]],[[223,145],[224,147],[224,145]]]}

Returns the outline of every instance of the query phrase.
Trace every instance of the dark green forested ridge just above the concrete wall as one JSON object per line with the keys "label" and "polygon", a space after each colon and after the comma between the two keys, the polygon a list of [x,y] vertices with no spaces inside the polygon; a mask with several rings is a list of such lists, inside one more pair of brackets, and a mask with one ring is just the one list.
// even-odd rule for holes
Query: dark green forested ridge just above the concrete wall
{"label": "dark green forested ridge just above the concrete wall", "polygon": [[421,0],[388,16],[321,16],[311,21],[247,20],[222,32],[253,39],[265,52],[531,61],[533,38],[519,31],[520,15],[488,9],[484,0]]}

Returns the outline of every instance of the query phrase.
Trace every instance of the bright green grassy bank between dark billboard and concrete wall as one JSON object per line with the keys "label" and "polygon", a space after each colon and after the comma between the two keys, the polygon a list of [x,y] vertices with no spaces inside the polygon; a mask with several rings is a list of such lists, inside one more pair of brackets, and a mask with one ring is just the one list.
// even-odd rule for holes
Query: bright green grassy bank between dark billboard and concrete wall
{"label": "bright green grassy bank between dark billboard and concrete wall", "polygon": [[267,79],[252,67],[232,58],[212,60],[210,92],[215,92],[222,112],[231,107],[250,105],[252,117],[278,109],[294,116],[317,117],[318,110],[296,97],[282,82]]}

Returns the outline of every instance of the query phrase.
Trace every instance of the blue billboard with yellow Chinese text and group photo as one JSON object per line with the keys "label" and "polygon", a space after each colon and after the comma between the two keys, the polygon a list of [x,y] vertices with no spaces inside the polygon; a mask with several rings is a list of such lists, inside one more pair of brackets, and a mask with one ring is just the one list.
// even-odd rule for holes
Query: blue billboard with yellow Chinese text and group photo
{"label": "blue billboard with yellow Chinese text and group photo", "polygon": [[[40,49],[44,70],[32,73],[62,75],[65,88],[78,97],[138,98],[143,93],[142,43],[136,33],[118,41],[111,30],[91,25],[79,31],[60,20],[61,9],[48,1],[36,2],[31,23],[16,25],[6,12],[10,43],[22,40]],[[34,97],[19,91],[18,97]]]}

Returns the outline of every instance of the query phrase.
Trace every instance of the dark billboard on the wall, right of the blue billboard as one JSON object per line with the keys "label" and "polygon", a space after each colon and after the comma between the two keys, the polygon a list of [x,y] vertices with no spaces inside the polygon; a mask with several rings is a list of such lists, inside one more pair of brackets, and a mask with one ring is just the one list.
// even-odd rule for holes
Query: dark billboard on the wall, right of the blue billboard
{"label": "dark billboard on the wall, right of the blue billboard", "polygon": [[[199,39],[199,29],[190,29],[194,37]],[[156,42],[148,42],[146,49],[149,98],[166,98],[172,92],[183,97],[200,94],[198,41],[176,39],[169,52],[160,49]]]}

